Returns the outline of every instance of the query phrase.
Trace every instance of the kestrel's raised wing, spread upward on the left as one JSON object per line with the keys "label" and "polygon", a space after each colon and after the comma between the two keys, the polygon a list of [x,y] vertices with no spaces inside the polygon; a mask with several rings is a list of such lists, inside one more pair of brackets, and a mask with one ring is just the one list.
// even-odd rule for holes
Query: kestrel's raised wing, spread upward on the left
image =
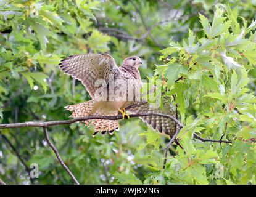
{"label": "kestrel's raised wing, spread upward on the left", "polygon": [[120,73],[114,58],[108,54],[71,55],[59,65],[64,73],[81,81],[92,98],[99,89],[97,80],[103,79],[107,83],[109,74],[115,76]]}

